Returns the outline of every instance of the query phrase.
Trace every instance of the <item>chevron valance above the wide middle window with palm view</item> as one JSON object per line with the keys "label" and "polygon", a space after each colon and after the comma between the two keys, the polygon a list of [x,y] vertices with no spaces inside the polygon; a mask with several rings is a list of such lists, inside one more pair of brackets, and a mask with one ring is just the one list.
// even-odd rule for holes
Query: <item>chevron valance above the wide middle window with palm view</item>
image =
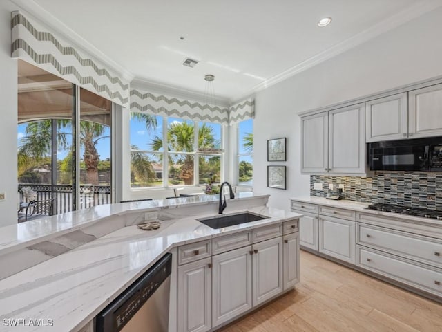
{"label": "chevron valance above the wide middle window with palm view", "polygon": [[228,125],[229,109],[131,89],[131,111]]}

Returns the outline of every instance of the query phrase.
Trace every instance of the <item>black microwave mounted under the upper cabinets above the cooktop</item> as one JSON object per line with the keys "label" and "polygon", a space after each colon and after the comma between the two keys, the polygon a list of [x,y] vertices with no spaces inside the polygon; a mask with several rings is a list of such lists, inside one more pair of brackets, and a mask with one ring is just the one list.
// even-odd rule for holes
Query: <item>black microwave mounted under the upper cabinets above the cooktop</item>
{"label": "black microwave mounted under the upper cabinets above the cooktop", "polygon": [[442,137],[368,144],[373,171],[442,172]]}

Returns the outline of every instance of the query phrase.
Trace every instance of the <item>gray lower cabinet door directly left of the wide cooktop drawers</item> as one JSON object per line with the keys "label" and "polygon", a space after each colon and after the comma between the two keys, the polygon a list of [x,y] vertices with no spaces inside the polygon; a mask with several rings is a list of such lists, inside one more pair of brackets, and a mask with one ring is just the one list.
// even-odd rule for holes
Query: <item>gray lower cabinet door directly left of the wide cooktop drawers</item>
{"label": "gray lower cabinet door directly left of the wide cooktop drawers", "polygon": [[354,221],[319,216],[319,252],[349,263],[356,263]]}

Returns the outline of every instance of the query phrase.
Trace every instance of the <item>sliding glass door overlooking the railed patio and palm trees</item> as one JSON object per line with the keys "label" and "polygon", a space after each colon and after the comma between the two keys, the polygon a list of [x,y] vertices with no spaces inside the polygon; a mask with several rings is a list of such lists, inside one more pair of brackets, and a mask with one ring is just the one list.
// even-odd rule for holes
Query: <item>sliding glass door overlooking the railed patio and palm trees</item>
{"label": "sliding glass door overlooking the railed patio and palm trees", "polygon": [[[19,60],[18,180],[53,213],[111,203],[111,102]],[[28,192],[28,190],[25,190]],[[20,208],[20,206],[18,207]]]}

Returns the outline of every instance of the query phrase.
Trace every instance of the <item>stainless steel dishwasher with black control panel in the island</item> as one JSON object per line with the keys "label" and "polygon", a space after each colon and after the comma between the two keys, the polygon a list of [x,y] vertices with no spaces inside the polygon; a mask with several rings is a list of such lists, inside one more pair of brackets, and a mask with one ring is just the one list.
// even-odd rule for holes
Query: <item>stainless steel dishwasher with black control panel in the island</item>
{"label": "stainless steel dishwasher with black control panel in the island", "polygon": [[164,255],[95,317],[96,332],[167,332],[172,255]]}

